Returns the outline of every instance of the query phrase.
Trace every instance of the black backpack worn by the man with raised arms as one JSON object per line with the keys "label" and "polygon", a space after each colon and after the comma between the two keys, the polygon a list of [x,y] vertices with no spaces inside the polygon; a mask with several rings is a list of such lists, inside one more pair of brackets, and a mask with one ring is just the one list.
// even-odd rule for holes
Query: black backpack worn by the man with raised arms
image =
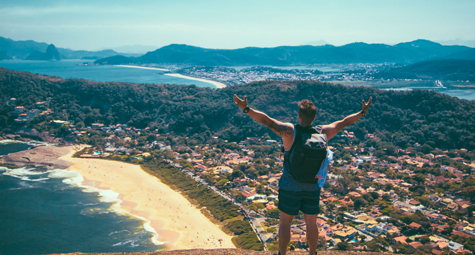
{"label": "black backpack worn by the man with raised arms", "polygon": [[328,141],[322,134],[322,126],[316,127],[297,124],[296,137],[292,147],[285,154],[284,165],[292,156],[290,173],[299,183],[316,184],[319,181],[318,172],[325,162]]}

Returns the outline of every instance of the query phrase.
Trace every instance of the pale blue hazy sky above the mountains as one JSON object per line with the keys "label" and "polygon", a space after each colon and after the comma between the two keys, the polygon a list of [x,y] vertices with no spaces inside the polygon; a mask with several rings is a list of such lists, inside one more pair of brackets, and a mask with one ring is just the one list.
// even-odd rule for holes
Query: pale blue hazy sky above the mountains
{"label": "pale blue hazy sky above the mountains", "polygon": [[5,1],[0,36],[95,50],[475,40],[475,1]]}

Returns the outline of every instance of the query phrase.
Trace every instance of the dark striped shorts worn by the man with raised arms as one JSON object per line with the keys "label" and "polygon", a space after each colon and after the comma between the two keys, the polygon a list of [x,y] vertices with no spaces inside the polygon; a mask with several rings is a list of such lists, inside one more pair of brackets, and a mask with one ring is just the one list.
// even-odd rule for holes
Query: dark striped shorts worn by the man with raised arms
{"label": "dark striped shorts worn by the man with raised arms", "polygon": [[297,215],[299,211],[314,215],[320,213],[320,189],[316,191],[287,191],[279,189],[279,205],[281,212]]}

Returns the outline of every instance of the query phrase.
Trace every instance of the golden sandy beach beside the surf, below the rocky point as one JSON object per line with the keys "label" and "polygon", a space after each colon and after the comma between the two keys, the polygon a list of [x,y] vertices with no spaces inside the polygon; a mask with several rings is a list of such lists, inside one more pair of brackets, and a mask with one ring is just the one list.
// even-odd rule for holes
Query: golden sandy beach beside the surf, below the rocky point
{"label": "golden sandy beach beside the surf, below the rocky point", "polygon": [[[142,170],[140,166],[101,159],[72,158],[79,147],[59,158],[71,162],[68,170],[79,172],[82,185],[119,193],[120,207],[150,221],[157,241],[168,249],[235,248],[231,238],[206,218],[179,192]],[[219,239],[222,239],[220,242]]]}

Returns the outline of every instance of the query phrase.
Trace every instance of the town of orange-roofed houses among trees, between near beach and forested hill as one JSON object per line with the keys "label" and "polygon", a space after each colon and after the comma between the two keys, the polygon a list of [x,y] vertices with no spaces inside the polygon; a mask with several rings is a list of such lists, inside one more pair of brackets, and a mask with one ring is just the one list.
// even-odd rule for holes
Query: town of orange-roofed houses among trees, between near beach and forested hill
{"label": "town of orange-roofed houses among trees, between near beach and forested hill", "polygon": [[[11,98],[8,104],[14,103]],[[35,106],[16,106],[15,121],[52,112],[47,101]],[[52,119],[50,125],[70,132],[75,139],[69,142],[101,137],[79,157],[170,164],[239,206],[264,247],[276,248],[282,174],[279,141],[267,135],[240,142],[211,137],[200,144],[189,137],[127,124],[85,126]],[[436,255],[474,251],[473,190],[463,190],[475,182],[475,162],[468,160],[472,151],[418,143],[404,149],[388,147],[379,143],[377,134],[360,140],[346,130],[330,145],[336,157],[321,193],[319,248],[406,254],[418,250]],[[294,220],[292,233],[293,247],[305,249],[302,215]]]}

